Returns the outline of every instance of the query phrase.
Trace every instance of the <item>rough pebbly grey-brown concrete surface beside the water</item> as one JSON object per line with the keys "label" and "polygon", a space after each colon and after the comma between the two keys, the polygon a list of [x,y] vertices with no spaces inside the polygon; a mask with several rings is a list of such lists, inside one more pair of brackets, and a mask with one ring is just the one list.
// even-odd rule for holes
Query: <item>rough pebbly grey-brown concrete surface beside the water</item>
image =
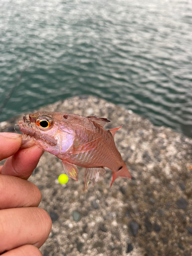
{"label": "rough pebbly grey-brown concrete surface beside the water", "polygon": [[[61,185],[61,160],[46,152],[29,179],[53,221],[44,256],[192,255],[192,139],[93,96],[39,110],[106,117],[105,129],[123,125],[115,142],[132,175],[110,188],[107,169],[87,190],[79,168],[78,182]],[[13,132],[19,118],[0,123],[0,131]]]}

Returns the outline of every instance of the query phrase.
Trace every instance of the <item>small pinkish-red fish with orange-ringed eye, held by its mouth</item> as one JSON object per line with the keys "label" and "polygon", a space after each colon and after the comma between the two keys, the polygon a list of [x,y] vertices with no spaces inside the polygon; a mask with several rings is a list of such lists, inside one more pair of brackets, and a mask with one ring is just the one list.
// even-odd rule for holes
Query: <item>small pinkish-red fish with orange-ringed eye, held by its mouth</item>
{"label": "small pinkish-red fish with orange-ringed eye, held by its mouth", "polygon": [[92,186],[108,167],[117,177],[131,179],[131,174],[115,145],[115,133],[122,127],[105,130],[110,120],[72,113],[36,112],[24,115],[18,126],[23,133],[22,147],[37,145],[62,160],[68,177],[77,181],[77,166],[86,168],[85,186]]}

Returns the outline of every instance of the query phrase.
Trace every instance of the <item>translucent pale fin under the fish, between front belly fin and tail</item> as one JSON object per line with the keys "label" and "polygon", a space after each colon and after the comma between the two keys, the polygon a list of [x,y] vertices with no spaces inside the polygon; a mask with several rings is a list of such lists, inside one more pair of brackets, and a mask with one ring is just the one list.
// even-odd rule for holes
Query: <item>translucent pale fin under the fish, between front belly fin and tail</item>
{"label": "translucent pale fin under the fish, between front belly fin and tail", "polygon": [[103,175],[106,172],[104,167],[91,167],[86,168],[84,173],[84,183],[86,188],[88,188],[89,182],[91,181],[92,186],[99,180],[99,173]]}

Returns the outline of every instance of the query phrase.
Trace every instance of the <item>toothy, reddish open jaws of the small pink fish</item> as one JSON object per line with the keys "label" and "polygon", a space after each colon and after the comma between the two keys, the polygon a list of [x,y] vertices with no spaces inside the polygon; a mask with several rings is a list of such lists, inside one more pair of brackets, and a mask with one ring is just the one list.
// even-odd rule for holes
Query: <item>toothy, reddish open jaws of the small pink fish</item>
{"label": "toothy, reddish open jaws of the small pink fish", "polygon": [[35,129],[34,125],[35,124],[30,121],[29,115],[25,115],[23,120],[19,120],[18,124],[16,124],[16,126],[19,126],[19,129],[24,134],[24,136],[27,135],[27,137],[30,136],[35,140],[42,140],[52,146],[57,144],[56,139],[48,134],[40,133]]}

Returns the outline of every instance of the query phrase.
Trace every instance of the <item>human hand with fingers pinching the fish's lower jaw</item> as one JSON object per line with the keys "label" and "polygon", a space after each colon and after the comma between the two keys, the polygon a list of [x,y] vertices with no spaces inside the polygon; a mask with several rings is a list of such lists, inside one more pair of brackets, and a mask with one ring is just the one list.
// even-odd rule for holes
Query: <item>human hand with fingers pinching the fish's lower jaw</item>
{"label": "human hand with fingers pinching the fish's lower jaw", "polygon": [[19,149],[19,134],[0,133],[0,254],[42,256],[39,247],[51,231],[48,213],[38,208],[41,193],[27,181],[42,150],[37,146]]}

